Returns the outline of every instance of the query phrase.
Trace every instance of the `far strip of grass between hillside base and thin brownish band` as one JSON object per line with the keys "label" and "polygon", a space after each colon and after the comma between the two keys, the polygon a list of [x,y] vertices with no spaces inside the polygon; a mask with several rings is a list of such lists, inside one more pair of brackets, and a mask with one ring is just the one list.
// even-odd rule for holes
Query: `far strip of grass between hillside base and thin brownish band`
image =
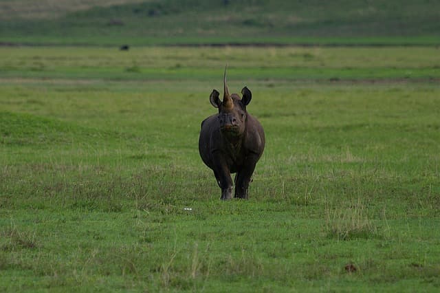
{"label": "far strip of grass between hillside base and thin brownish band", "polygon": [[[129,52],[109,48],[0,48],[0,76],[10,78],[111,78],[115,80],[217,80],[230,64],[234,80],[436,79],[440,54],[435,47],[142,47]],[[200,52],[195,54],[194,52]],[[239,85],[237,85],[239,86]]]}

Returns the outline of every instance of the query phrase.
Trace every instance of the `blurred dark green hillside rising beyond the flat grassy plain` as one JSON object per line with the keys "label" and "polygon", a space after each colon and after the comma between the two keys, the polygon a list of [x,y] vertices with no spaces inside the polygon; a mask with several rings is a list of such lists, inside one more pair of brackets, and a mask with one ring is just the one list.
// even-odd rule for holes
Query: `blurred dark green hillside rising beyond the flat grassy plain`
{"label": "blurred dark green hillside rising beyond the flat grassy plain", "polygon": [[0,42],[440,44],[438,0],[0,0]]}

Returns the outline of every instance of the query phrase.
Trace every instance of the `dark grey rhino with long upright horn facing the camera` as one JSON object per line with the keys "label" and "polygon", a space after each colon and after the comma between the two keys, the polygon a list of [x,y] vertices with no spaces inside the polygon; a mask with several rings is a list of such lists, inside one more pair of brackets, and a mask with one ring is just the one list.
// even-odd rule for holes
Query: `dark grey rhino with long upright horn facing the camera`
{"label": "dark grey rhino with long upright horn facing the camera", "polygon": [[219,113],[201,122],[199,153],[201,160],[214,171],[221,199],[232,198],[231,173],[236,173],[234,197],[248,198],[252,173],[265,145],[263,127],[246,111],[252,93],[243,87],[241,94],[242,98],[229,94],[225,69],[223,101],[216,89],[210,94],[210,102]]}

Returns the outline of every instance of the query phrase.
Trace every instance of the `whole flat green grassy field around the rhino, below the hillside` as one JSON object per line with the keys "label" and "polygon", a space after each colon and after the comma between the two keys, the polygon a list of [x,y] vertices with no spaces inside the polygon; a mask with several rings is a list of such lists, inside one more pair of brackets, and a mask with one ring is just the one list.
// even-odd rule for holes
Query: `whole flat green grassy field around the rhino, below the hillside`
{"label": "whole flat green grassy field around the rhino, below the hillside", "polygon": [[[0,48],[0,291],[438,292],[435,48]],[[197,151],[225,63],[248,201]]]}

